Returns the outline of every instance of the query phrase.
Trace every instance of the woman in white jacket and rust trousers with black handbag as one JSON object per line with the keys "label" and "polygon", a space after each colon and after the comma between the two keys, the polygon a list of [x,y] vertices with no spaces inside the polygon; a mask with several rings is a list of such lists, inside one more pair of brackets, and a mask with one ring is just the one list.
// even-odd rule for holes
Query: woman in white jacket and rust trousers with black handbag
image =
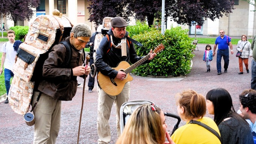
{"label": "woman in white jacket and rust trousers with black handbag", "polygon": [[239,69],[240,72],[238,74],[243,74],[243,61],[244,65],[246,67],[247,73],[249,73],[249,68],[248,68],[248,60],[249,57],[252,57],[252,49],[251,49],[251,43],[247,40],[246,35],[242,35],[241,40],[238,41],[237,43],[237,55],[238,61],[239,61]]}

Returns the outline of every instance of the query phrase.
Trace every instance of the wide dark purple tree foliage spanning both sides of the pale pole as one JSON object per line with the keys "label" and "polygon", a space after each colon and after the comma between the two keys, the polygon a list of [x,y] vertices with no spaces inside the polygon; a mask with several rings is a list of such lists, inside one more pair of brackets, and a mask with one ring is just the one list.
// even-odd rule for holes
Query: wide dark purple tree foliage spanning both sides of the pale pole
{"label": "wide dark purple tree foliage spanning both sides of the pale pole", "polygon": [[[162,0],[88,0],[90,22],[102,24],[104,17],[122,16],[127,21],[128,16],[143,20],[147,16],[149,25],[153,19],[161,19]],[[223,15],[228,16],[234,9],[233,0],[165,0],[165,18],[178,24],[191,25],[195,21],[203,25],[207,18],[214,21]]]}

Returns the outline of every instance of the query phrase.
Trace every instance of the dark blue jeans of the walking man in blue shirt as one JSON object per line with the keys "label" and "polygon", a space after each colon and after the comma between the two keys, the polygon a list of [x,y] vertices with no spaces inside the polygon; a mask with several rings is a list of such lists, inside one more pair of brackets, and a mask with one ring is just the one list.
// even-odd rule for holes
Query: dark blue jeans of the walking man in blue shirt
{"label": "dark blue jeans of the walking man in blue shirt", "polygon": [[217,71],[221,72],[221,58],[223,56],[224,69],[228,69],[229,64],[229,49],[218,49],[217,50]]}

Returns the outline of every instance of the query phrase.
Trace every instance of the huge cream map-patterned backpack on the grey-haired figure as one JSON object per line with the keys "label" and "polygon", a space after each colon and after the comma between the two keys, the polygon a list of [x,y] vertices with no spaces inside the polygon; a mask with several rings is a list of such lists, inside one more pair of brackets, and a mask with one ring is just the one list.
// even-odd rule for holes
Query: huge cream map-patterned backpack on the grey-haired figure
{"label": "huge cream map-patterned backpack on the grey-haired figure", "polygon": [[[42,78],[42,67],[50,49],[70,35],[73,27],[67,17],[56,10],[40,15],[31,23],[25,42],[19,46],[13,65],[13,82],[8,99],[13,111],[25,114],[30,108],[34,81]],[[71,50],[72,51],[72,50]],[[68,52],[71,57],[71,52]],[[69,61],[68,61],[69,62]]]}

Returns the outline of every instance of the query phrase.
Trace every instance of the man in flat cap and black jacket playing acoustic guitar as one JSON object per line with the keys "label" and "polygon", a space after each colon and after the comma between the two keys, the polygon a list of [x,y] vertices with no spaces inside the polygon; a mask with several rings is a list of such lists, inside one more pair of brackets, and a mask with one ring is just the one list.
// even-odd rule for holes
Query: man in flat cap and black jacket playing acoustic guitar
{"label": "man in flat cap and black jacket playing acoustic guitar", "polygon": [[[144,56],[138,56],[134,45],[126,40],[128,37],[128,32],[126,31],[127,22],[124,18],[116,16],[112,18],[111,29],[107,33],[108,36],[103,37],[100,45],[96,51],[95,56],[95,66],[97,70],[110,77],[110,79],[125,80],[126,73],[124,71],[117,71],[113,68],[117,67],[119,62],[127,61],[134,64],[139,61]],[[108,38],[109,37],[109,40]],[[125,41],[124,41],[125,39]],[[123,48],[121,48],[121,40],[126,43],[126,53],[123,55]],[[110,44],[111,43],[111,44]],[[124,45],[122,45],[123,47]],[[145,62],[150,62],[156,56],[156,53],[151,53],[150,58]],[[127,102],[130,95],[130,82],[125,83],[122,92],[118,95],[112,96],[106,94],[99,87],[98,89],[98,118],[97,118],[97,131],[98,131],[98,144],[108,144],[110,143],[110,126],[109,117],[112,109],[113,103],[115,103],[116,108],[116,127],[118,132],[118,137],[121,135],[120,132],[120,107],[124,102]]]}

